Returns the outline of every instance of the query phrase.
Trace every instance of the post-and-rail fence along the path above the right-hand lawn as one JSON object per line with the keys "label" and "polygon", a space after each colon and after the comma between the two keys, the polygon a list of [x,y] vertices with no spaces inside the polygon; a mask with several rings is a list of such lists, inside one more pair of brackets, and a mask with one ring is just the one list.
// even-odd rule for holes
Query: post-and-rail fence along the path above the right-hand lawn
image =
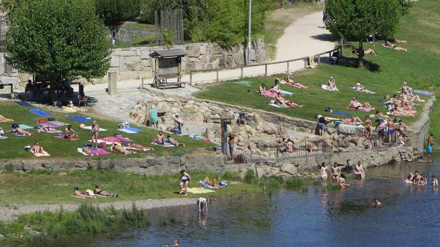
{"label": "post-and-rail fence along the path above the right-hand lawn", "polygon": [[[336,50],[339,50],[339,54],[342,54],[342,46],[337,46],[335,49],[332,49],[332,50],[328,50],[328,51],[324,51],[324,52],[321,52],[321,53],[317,53],[317,54],[314,54],[313,55],[313,59],[314,58],[317,58],[317,64],[320,64],[320,62],[321,62],[321,55],[324,55],[324,54],[327,54],[328,53],[328,57],[331,57],[331,53],[332,52],[334,52],[334,51],[336,51]],[[290,72],[290,70],[289,70],[289,63],[290,62],[295,62],[295,61],[301,61],[301,60],[303,60],[304,61],[304,67],[303,67],[303,69],[306,69],[308,66],[310,66],[310,64],[309,64],[309,57],[308,56],[305,56],[305,57],[299,57],[299,58],[294,58],[294,59],[289,59],[289,60],[283,60],[283,61],[276,61],[276,62],[267,62],[267,63],[258,63],[258,64],[250,64],[250,65],[242,65],[242,66],[238,66],[238,67],[232,67],[232,68],[215,68],[215,69],[194,69],[194,70],[190,70],[189,71],[189,83],[192,83],[192,74],[193,73],[200,73],[200,72],[213,72],[213,71],[215,71],[216,72],[216,78],[215,78],[215,80],[218,82],[220,79],[219,79],[219,76],[218,76],[218,72],[219,71],[223,71],[223,70],[233,70],[233,69],[240,69],[240,76],[239,76],[239,78],[240,79],[242,79],[243,78],[243,70],[245,69],[245,68],[250,68],[250,67],[258,67],[258,66],[264,66],[264,76],[267,76],[268,75],[268,73],[267,73],[267,66],[268,65],[274,65],[274,64],[281,64],[281,63],[285,63],[286,64],[286,73],[289,73]],[[258,74],[254,74],[254,75],[250,75],[250,76],[255,76],[255,75],[260,75],[260,73],[258,73]],[[247,76],[249,76],[249,75],[247,75]]]}

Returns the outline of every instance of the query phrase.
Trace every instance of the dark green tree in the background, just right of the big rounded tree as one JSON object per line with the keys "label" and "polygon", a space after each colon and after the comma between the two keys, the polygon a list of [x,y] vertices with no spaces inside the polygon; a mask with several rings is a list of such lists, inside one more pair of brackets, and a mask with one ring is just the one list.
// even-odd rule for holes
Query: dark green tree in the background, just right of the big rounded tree
{"label": "dark green tree in the background, just right of the big rounded tree", "polygon": [[110,29],[114,38],[120,26],[140,13],[141,0],[95,0],[96,13]]}

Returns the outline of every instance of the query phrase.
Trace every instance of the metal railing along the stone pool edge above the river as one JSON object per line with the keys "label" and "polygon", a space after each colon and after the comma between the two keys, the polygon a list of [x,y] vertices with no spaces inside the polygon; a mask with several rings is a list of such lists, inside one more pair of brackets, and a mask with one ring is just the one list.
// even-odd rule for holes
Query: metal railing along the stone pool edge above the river
{"label": "metal railing along the stone pool edge above the river", "polygon": [[321,139],[317,142],[304,141],[294,144],[292,152],[286,151],[283,147],[276,147],[276,161],[282,161],[287,159],[308,157],[308,156],[318,156],[330,153],[341,153],[341,152],[354,152],[360,150],[370,150],[378,148],[392,147],[397,142],[397,135],[392,136],[391,143],[389,143],[389,135],[384,134],[379,136],[374,134],[371,139],[367,139],[364,136],[346,136],[346,137],[336,137]]}

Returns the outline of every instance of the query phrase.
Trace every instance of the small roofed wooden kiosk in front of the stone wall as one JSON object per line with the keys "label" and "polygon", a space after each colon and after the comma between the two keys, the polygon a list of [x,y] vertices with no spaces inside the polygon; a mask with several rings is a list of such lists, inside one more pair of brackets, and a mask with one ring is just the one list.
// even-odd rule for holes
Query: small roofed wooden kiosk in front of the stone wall
{"label": "small roofed wooden kiosk in front of the stone wall", "polygon": [[[162,88],[169,86],[184,87],[186,82],[182,82],[182,57],[186,53],[181,49],[172,50],[158,50],[149,54],[154,59],[153,73],[155,88]],[[175,79],[177,81],[168,81]]]}

